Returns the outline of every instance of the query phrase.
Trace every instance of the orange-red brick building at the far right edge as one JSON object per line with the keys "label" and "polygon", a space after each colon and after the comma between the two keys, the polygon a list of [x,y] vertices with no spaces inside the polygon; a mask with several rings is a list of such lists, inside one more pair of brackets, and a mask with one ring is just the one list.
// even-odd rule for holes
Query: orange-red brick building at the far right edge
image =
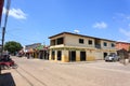
{"label": "orange-red brick building at the far right edge", "polygon": [[119,49],[126,49],[126,51],[130,51],[130,43],[127,42],[117,42],[116,43],[116,48]]}

